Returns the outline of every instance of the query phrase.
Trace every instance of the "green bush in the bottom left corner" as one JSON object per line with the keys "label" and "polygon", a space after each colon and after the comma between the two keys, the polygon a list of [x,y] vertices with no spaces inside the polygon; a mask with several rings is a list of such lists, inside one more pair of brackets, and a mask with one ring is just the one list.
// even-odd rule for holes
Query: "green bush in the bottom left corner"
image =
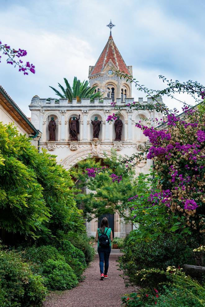
{"label": "green bush in the bottom left corner", "polygon": [[0,305],[5,307],[40,306],[46,288],[40,276],[14,251],[0,251]]}

